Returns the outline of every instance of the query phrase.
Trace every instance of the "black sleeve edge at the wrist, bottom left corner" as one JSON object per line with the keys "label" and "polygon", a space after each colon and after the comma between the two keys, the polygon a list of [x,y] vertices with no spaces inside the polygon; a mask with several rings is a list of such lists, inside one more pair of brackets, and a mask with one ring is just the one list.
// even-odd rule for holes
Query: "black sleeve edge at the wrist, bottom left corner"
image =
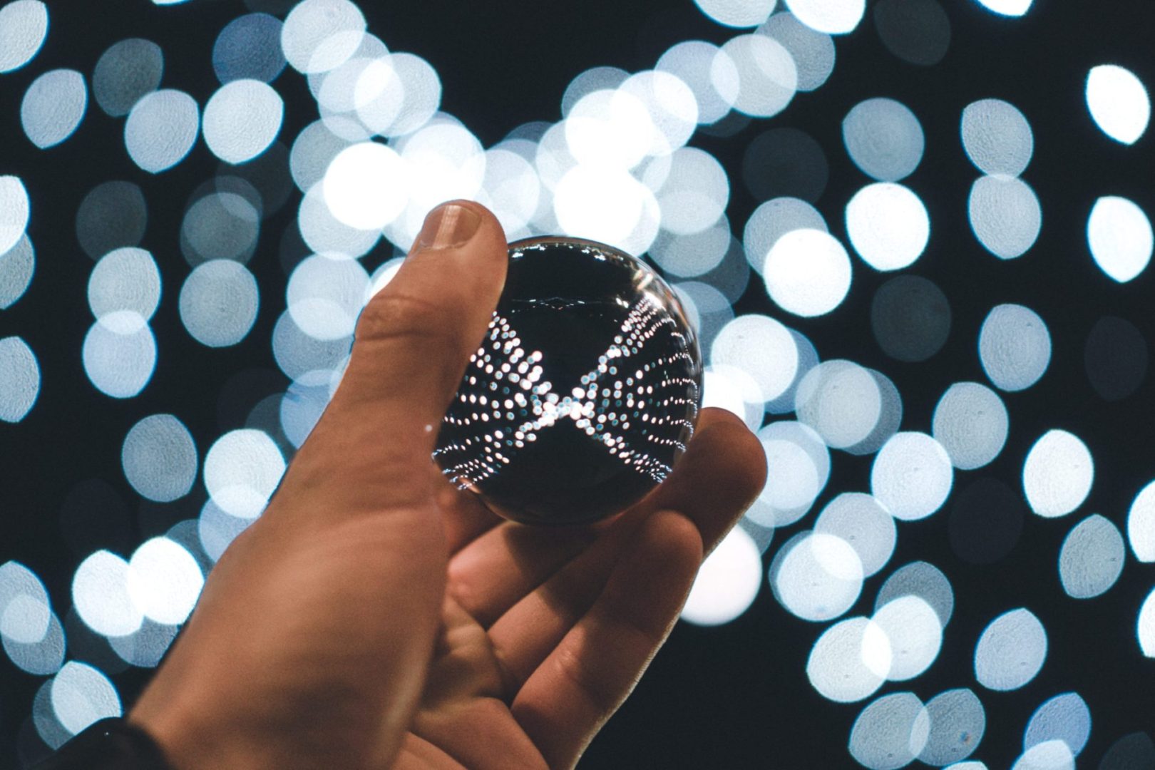
{"label": "black sleeve edge at the wrist, bottom left corner", "polygon": [[173,770],[143,730],[100,719],[32,770]]}

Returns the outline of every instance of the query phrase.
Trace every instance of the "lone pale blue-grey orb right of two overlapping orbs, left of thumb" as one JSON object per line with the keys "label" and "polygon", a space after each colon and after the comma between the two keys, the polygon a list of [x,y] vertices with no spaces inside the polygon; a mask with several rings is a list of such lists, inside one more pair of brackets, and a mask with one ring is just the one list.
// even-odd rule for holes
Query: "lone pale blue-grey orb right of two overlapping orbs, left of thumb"
{"label": "lone pale blue-grey orb right of two overlapping orbs, left of thumb", "polygon": [[229,347],[244,339],[256,321],[260,294],[248,269],[232,260],[196,266],[180,287],[178,311],[193,339]]}

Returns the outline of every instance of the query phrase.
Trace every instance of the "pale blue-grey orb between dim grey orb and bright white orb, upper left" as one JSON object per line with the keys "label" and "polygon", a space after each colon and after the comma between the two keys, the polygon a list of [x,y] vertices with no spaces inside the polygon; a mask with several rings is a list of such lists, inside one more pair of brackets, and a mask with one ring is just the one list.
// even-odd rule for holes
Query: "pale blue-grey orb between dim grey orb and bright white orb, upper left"
{"label": "pale blue-grey orb between dim grey orb and bright white orb, upper left", "polygon": [[147,94],[133,105],[125,121],[128,157],[149,173],[166,171],[193,149],[200,125],[200,107],[184,91]]}

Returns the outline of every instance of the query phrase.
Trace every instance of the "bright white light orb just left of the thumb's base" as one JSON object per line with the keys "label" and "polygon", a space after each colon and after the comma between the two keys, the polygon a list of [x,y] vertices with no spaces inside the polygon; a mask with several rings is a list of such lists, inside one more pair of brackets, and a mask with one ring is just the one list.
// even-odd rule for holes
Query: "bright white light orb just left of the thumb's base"
{"label": "bright white light orb just left of the thumb's base", "polygon": [[263,431],[240,428],[217,439],[204,456],[204,487],[223,511],[256,518],[285,472],[285,459]]}

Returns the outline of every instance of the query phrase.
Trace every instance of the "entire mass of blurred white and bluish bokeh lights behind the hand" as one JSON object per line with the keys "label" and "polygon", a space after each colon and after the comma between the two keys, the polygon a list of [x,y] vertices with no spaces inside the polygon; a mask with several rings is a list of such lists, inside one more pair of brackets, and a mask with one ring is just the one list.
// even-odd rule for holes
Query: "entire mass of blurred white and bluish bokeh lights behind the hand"
{"label": "entire mass of blurred white and bluish bokeh lights behind the hand", "polygon": [[[970,483],[966,474],[1007,446],[1015,427],[1008,396],[1048,373],[1048,323],[1026,305],[992,304],[981,327],[957,329],[975,338],[986,381],[944,383],[933,412],[912,420],[904,420],[892,376],[854,360],[822,359],[803,329],[865,291],[856,275],[895,274],[870,304],[870,329],[888,358],[925,361],[952,331],[942,290],[902,272],[932,238],[930,211],[907,184],[930,142],[916,111],[896,99],[867,98],[845,112],[841,149],[860,177],[834,227],[845,233],[843,241],[815,208],[830,148],[798,129],[766,130],[743,160],[744,181],[761,203],[745,222],[731,222],[730,173],[710,152],[688,145],[695,132],[735,114],[773,118],[821,88],[835,68],[836,37],[859,25],[866,3],[695,2],[733,30],[726,43],[678,43],[638,73],[588,69],[562,95],[559,120],[520,126],[489,148],[440,110],[435,68],[390,51],[351,0],[304,0],[283,20],[260,12],[238,16],[216,37],[211,68],[219,85],[207,98],[181,89],[187,62],[166,62],[161,45],[140,38],[110,45],[90,74],[47,69],[28,83],[18,120],[35,148],[67,142],[98,109],[122,121],[119,150],[144,174],[163,174],[191,156],[221,164],[191,190],[179,233],[172,233],[184,263],[141,247],[149,202],[137,184],[109,180],[84,196],[73,224],[94,261],[87,293],[92,320],[76,352],[90,384],[118,399],[149,387],[158,312],[179,315],[185,332],[207,349],[238,345],[260,314],[271,313],[273,358],[290,381],[252,409],[243,427],[207,448],[198,447],[179,416],[141,414],[118,449],[128,486],[146,501],[171,502],[200,484],[207,502],[198,517],[128,554],[96,550],[81,558],[64,614],[30,569],[15,561],[0,566],[3,649],[18,668],[47,678],[31,704],[44,742],[59,746],[91,722],[120,713],[109,674],[158,663],[213,563],[261,515],[291,453],[335,391],[356,319],[396,271],[396,255],[411,246],[432,205],[465,197],[492,208],[509,240],[560,233],[648,254],[699,330],[708,362],[706,405],[733,411],[758,433],[767,485],[703,565],[683,619],[733,621],[766,581],[785,611],[824,625],[805,663],[813,688],[836,703],[873,697],[848,738],[855,761],[875,770],[916,760],[985,767],[968,761],[986,730],[983,698],[1027,687],[1046,664],[1042,621],[1027,607],[1008,607],[969,641],[973,681],[925,703],[910,691],[874,697],[888,682],[915,680],[936,663],[955,589],[924,561],[891,570],[877,589],[871,578],[888,569],[907,523],[936,515],[953,493],[951,543],[959,558],[990,563],[1006,554],[974,531],[985,521],[982,511],[1012,493],[1001,481]],[[1031,9],[1031,0],[978,2],[1007,17]],[[934,0],[879,0],[873,12],[882,45],[899,59],[926,66],[945,55],[949,21]],[[0,75],[33,61],[50,33],[44,2],[0,6]],[[284,128],[280,87],[290,76],[304,80],[318,115],[295,136]],[[1130,145],[1146,134],[1150,103],[1134,73],[1096,65],[1085,83],[1067,88],[1085,89],[1087,115],[1104,140]],[[1043,204],[1023,178],[1035,129],[1003,99],[959,110],[956,141],[979,174],[966,211],[975,241],[998,260],[1015,260],[1033,248],[1044,222]],[[0,167],[0,313],[35,278],[30,224],[44,216],[33,205],[37,184]],[[293,237],[307,255],[286,264],[278,294],[259,285],[247,263],[260,244],[280,237],[266,222],[289,202],[298,207]],[[1086,233],[1086,256],[1111,282],[1131,282],[1147,269],[1153,231],[1139,202],[1098,197]],[[387,259],[370,269],[366,256],[382,242]],[[177,297],[162,296],[169,274],[180,276]],[[735,314],[755,276],[761,284],[752,291],[765,290],[778,319]],[[1109,361],[1118,375],[1105,376],[1103,350],[1122,351],[1111,361],[1141,365],[1119,369]],[[1141,332],[1123,319],[1104,317],[1088,339],[1087,373],[1108,401],[1134,393],[1146,361]],[[22,336],[0,338],[0,421],[22,421],[40,386],[37,352]],[[910,423],[931,426],[930,433],[904,429]],[[833,496],[803,524],[807,529],[789,532],[765,567],[775,530],[811,514],[840,453],[871,458],[869,491]],[[1059,427],[1034,438],[1021,468],[1022,499],[1041,518],[1080,511],[1095,483],[1091,448]],[[1155,481],[1134,498],[1125,532],[1087,513],[1056,560],[1063,590],[1080,600],[1115,585],[1128,551],[1137,561],[1155,562]],[[1021,522],[1005,539],[1013,543],[1020,531]],[[869,614],[845,616],[869,591],[875,597]],[[1135,623],[1139,648],[1155,657],[1155,592]],[[89,637],[110,650],[104,671],[68,657],[70,644]],[[1078,693],[1042,702],[1015,767],[1073,768],[1090,728],[1090,709]],[[1125,737],[1111,752],[1145,750],[1137,740]]]}

